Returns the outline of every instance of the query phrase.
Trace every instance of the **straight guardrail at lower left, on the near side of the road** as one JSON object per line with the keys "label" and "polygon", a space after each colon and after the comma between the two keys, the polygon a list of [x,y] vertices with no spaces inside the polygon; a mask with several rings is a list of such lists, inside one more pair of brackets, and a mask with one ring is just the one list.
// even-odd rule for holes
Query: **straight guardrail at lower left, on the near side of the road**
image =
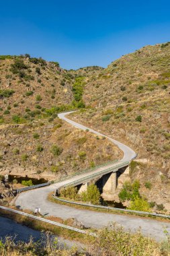
{"label": "straight guardrail at lower left, on the near side of the road", "polygon": [[8,212],[13,212],[15,214],[20,214],[22,216],[26,216],[26,217],[29,217],[29,218],[32,218],[34,220],[40,220],[41,222],[46,222],[48,224],[52,224],[52,225],[55,225],[55,226],[59,226],[60,228],[67,228],[69,230],[73,230],[75,232],[79,232],[79,233],[82,233],[82,234],[88,234],[89,236],[97,236],[97,234],[93,233],[93,232],[87,232],[85,230],[81,230],[79,228],[74,228],[73,226],[67,226],[65,224],[61,224],[59,222],[54,222],[52,220],[47,220],[45,218],[41,218],[41,217],[38,217],[38,216],[34,216],[32,214],[26,214],[26,212],[19,212],[17,210],[13,210],[11,208],[8,208],[8,207],[5,207],[5,206],[1,206],[0,205],[0,209],[2,210],[5,210],[5,211],[8,211]]}

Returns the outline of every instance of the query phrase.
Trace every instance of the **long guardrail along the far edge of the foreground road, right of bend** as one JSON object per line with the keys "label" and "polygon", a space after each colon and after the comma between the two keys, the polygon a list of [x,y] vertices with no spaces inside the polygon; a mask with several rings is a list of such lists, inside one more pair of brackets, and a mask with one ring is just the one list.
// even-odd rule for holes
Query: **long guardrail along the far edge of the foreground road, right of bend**
{"label": "long guardrail along the far edge of the foreground road, right of bend", "polygon": [[88,204],[88,203],[78,203],[78,202],[75,202],[75,201],[68,201],[68,200],[65,200],[65,199],[60,199],[59,197],[56,197],[55,195],[52,195],[52,197],[54,197],[54,199],[56,199],[58,201],[62,201],[64,203],[71,203],[71,204],[75,204],[75,205],[82,205],[82,206],[88,206],[88,207],[100,208],[100,209],[107,209],[107,210],[116,210],[116,211],[120,211],[120,212],[132,212],[132,213],[135,213],[135,214],[144,214],[144,215],[151,215],[151,216],[157,216],[157,217],[169,218],[170,219],[170,215],[157,214],[156,212],[142,212],[142,211],[127,210],[127,209],[116,208],[116,207],[109,207],[109,206],[103,206],[103,205],[93,205],[93,204]]}

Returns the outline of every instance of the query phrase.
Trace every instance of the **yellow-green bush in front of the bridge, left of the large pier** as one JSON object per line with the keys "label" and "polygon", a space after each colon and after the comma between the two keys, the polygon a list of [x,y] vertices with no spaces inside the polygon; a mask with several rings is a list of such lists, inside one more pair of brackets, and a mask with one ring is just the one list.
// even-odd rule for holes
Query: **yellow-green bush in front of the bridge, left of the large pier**
{"label": "yellow-green bush in front of the bridge, left of the large pier", "polygon": [[87,191],[81,193],[81,199],[92,204],[99,204],[100,193],[96,185],[91,184],[87,187]]}

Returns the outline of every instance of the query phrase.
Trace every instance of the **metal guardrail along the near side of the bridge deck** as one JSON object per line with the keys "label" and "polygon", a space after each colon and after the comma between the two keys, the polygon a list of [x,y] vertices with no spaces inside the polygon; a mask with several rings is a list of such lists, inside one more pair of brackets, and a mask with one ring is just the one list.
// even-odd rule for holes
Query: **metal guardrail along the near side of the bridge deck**
{"label": "metal guardrail along the near side of the bridge deck", "polygon": [[58,190],[64,188],[64,187],[68,187],[68,186],[72,186],[72,185],[79,185],[81,184],[81,182],[87,182],[89,179],[92,179],[92,178],[95,178],[95,177],[98,177],[100,175],[104,175],[104,174],[107,174],[108,172],[110,172],[111,170],[114,170],[115,169],[118,169],[118,168],[122,168],[124,166],[126,166],[127,164],[129,164],[129,161],[128,162],[122,162],[121,164],[118,164],[117,166],[112,166],[110,168],[107,168],[107,169],[104,169],[104,170],[101,170],[99,172],[96,172],[96,173],[93,173],[93,174],[89,174],[89,176],[87,177],[83,177],[81,179],[77,179],[76,181],[71,181],[70,183],[67,183],[65,185],[62,185],[58,188]]}

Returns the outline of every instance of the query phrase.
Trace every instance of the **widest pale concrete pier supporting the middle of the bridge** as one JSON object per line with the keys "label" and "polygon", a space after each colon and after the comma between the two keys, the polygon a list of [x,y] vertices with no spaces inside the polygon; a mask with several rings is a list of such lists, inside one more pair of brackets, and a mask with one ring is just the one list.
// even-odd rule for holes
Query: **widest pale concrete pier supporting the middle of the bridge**
{"label": "widest pale concrete pier supporting the middle of the bridge", "polygon": [[106,175],[103,176],[103,193],[113,193],[116,191],[117,177],[116,172],[112,172],[108,178]]}

